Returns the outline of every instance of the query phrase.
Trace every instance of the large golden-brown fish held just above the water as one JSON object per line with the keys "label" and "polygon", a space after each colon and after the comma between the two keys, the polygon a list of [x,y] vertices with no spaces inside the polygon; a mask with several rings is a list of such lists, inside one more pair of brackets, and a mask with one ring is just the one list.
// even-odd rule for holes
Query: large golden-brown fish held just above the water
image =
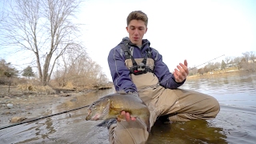
{"label": "large golden-brown fish held just above the water", "polygon": [[146,104],[136,94],[114,93],[108,94],[88,107],[86,121],[108,120],[119,118],[126,120],[121,114],[122,111],[130,113],[130,117],[139,118],[146,124],[147,130],[150,131],[150,110]]}

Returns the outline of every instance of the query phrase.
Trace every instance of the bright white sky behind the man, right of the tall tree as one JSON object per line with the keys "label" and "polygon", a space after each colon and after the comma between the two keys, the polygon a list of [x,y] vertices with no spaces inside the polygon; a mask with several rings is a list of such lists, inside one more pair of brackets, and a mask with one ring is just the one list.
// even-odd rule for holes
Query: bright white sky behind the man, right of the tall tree
{"label": "bright white sky behind the man, right of the tall tree", "polygon": [[126,17],[133,10],[147,14],[144,38],[162,54],[170,71],[184,59],[192,67],[222,54],[256,52],[255,0],[87,0],[77,16],[85,24],[82,40],[110,80],[107,56],[128,36]]}

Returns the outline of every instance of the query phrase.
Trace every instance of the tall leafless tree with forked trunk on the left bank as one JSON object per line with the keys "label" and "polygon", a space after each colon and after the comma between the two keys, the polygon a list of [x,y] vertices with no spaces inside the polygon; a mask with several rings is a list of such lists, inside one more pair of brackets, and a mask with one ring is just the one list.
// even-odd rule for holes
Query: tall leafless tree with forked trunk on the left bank
{"label": "tall leafless tree with forked trunk on the left bank", "polygon": [[[82,47],[77,42],[75,12],[82,0],[14,0],[2,22],[3,46],[34,54],[43,86],[50,82],[58,58],[66,50]],[[44,58],[44,59],[42,59]]]}

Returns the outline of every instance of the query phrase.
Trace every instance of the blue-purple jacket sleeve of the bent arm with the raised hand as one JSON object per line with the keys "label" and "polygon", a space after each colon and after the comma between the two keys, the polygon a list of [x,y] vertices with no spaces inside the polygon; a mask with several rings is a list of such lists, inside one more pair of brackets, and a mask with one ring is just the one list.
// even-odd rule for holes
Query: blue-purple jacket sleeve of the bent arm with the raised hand
{"label": "blue-purple jacket sleeve of the bent arm with the raised hand", "polygon": [[174,74],[170,73],[168,66],[162,62],[162,55],[157,50],[152,51],[154,54],[154,74],[158,77],[161,86],[166,89],[176,89],[182,86],[183,82],[175,82]]}

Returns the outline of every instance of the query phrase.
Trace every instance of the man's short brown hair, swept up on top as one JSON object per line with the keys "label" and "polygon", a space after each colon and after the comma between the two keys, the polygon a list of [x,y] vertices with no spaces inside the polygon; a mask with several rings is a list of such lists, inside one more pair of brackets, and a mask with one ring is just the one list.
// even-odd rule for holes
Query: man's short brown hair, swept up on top
{"label": "man's short brown hair, swept up on top", "polygon": [[145,22],[145,25],[147,26],[148,18],[147,18],[147,16],[146,16],[146,14],[142,12],[142,10],[132,11],[132,12],[128,15],[128,17],[127,17],[127,19],[126,19],[126,21],[127,21],[127,26],[130,24],[130,21],[131,21],[131,20],[134,20],[134,19],[136,19],[136,20],[142,20],[143,22]]}

